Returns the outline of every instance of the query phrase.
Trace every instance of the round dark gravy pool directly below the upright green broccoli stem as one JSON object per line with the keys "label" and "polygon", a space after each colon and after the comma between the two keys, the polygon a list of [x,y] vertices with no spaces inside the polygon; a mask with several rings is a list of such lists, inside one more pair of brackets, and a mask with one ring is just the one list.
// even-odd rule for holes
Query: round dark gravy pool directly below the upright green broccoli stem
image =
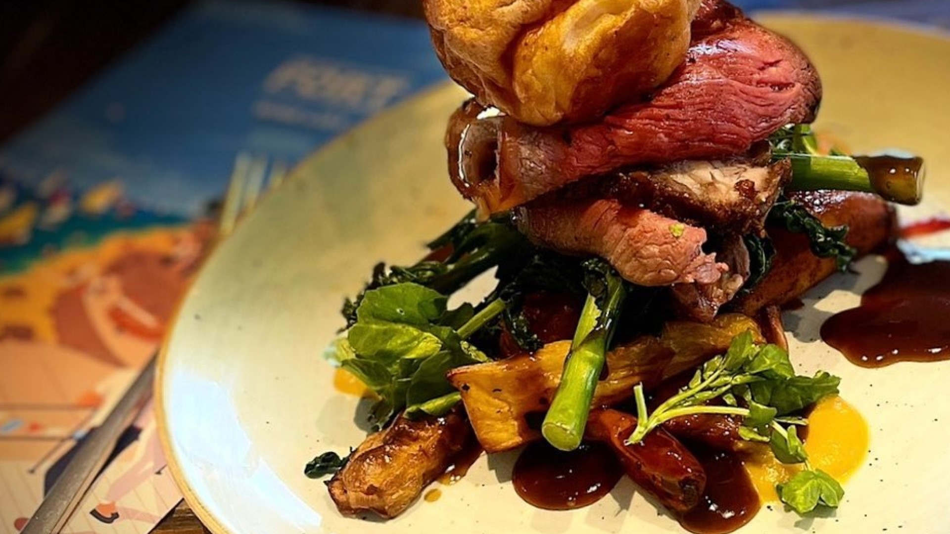
{"label": "round dark gravy pool directly below the upright green broccoli stem", "polygon": [[570,510],[593,505],[617,485],[623,469],[597,443],[563,452],[539,441],[524,448],[512,473],[515,491],[529,505]]}

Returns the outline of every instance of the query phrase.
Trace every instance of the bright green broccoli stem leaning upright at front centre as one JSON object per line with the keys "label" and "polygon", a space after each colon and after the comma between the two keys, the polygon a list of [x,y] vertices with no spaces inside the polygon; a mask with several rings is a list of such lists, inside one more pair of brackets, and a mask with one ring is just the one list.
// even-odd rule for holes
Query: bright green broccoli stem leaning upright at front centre
{"label": "bright green broccoli stem leaning upright at front centre", "polygon": [[571,352],[564,361],[561,383],[542,423],[544,439],[555,448],[574,450],[580,446],[625,296],[623,280],[614,273],[607,277],[602,310],[594,296],[588,295],[584,302]]}

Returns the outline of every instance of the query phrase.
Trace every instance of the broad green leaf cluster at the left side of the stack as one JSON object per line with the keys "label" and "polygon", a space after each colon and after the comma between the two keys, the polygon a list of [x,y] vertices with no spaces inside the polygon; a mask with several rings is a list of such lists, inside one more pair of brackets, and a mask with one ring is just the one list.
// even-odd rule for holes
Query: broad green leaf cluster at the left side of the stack
{"label": "broad green leaf cluster at the left side of the stack", "polygon": [[475,313],[469,305],[448,311],[447,300],[412,282],[369,290],[355,324],[337,340],[335,359],[380,397],[371,412],[377,427],[404,409],[409,416],[446,413],[459,400],[446,373],[488,360],[466,338],[504,312],[504,301]]}

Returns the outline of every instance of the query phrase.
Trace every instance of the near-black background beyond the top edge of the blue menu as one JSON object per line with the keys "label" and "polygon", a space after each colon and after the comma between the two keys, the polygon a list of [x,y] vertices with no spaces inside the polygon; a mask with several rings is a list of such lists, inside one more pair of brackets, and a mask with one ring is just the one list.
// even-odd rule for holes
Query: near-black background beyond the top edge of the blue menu
{"label": "near-black background beyond the top edge of the blue menu", "polygon": [[[0,143],[193,0],[0,0]],[[422,17],[421,0],[297,0]]]}

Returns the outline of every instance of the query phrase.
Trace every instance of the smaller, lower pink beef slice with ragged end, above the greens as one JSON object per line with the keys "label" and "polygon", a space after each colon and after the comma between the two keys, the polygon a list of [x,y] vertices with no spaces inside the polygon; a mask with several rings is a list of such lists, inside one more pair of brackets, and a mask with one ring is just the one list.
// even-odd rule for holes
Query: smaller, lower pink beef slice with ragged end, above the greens
{"label": "smaller, lower pink beef slice with ragged end, above the greens", "polygon": [[616,199],[539,199],[515,210],[518,228],[563,254],[603,257],[643,286],[712,283],[728,270],[706,254],[706,230]]}

